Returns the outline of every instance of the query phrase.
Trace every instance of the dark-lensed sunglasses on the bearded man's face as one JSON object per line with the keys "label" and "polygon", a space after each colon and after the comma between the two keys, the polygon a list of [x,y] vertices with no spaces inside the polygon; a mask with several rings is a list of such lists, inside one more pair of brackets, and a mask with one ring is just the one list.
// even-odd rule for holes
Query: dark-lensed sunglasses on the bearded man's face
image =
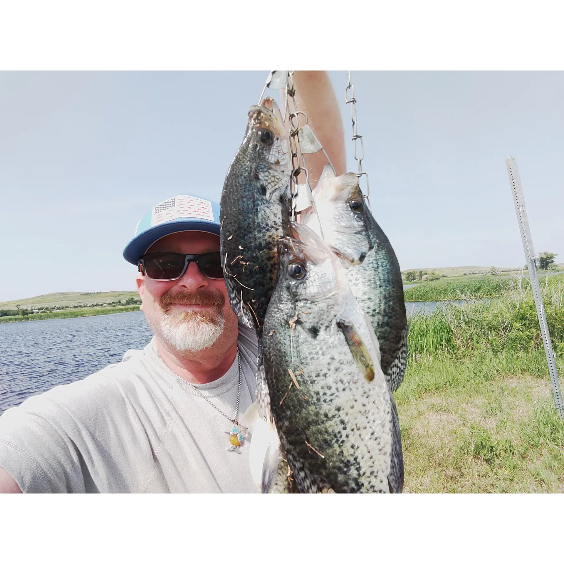
{"label": "dark-lensed sunglasses on the bearded man's face", "polygon": [[148,253],[139,259],[139,272],[151,280],[178,280],[195,262],[200,272],[212,280],[223,279],[221,254]]}

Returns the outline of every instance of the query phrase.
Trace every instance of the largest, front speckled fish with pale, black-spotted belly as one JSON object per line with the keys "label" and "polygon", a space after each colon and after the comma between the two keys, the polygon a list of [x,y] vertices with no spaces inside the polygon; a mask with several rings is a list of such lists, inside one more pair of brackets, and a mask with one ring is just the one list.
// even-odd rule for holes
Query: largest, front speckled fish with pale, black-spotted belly
{"label": "largest, front speckled fish with pale, black-spotted belly", "polygon": [[402,443],[378,341],[344,269],[309,228],[280,240],[263,331],[270,406],[298,490],[401,492]]}

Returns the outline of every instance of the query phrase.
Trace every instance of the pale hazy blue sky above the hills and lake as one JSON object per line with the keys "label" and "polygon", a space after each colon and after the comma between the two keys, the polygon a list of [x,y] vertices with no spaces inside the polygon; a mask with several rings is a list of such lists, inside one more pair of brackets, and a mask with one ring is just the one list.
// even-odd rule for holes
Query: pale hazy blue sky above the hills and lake
{"label": "pale hazy blue sky above the hills and lake", "polygon": [[[261,72],[0,72],[0,301],[134,289],[122,251],[152,205],[219,201]],[[331,72],[350,109],[346,72]],[[353,72],[374,217],[402,270],[564,261],[564,73]],[[349,170],[355,170],[347,143]]]}

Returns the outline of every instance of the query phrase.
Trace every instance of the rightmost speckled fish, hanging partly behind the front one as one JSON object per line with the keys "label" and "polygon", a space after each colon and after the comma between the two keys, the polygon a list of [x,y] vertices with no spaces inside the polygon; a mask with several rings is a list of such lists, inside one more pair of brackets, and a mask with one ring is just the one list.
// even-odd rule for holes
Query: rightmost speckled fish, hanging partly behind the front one
{"label": "rightmost speckled fish, hanging partly behind the front one", "polygon": [[[313,196],[323,238],[336,250],[352,293],[371,320],[382,371],[396,390],[406,371],[408,326],[394,249],[365,204],[355,174],[336,177],[325,166]],[[319,235],[318,217],[312,208],[302,214],[302,222]]]}

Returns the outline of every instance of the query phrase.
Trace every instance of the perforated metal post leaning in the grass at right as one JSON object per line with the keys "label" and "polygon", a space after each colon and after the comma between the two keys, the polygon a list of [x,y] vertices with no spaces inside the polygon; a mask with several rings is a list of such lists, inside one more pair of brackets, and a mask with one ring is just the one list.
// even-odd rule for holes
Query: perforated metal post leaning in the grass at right
{"label": "perforated metal post leaning in the grass at right", "polygon": [[539,316],[540,333],[543,337],[544,351],[547,353],[548,371],[550,373],[550,382],[552,382],[554,403],[556,403],[558,413],[564,418],[564,405],[562,404],[562,394],[558,382],[558,371],[556,369],[556,362],[554,361],[554,351],[552,350],[552,342],[550,341],[543,298],[540,294],[539,280],[536,276],[535,249],[532,246],[531,231],[528,225],[527,211],[525,210],[525,198],[523,197],[523,188],[521,187],[521,178],[519,178],[517,161],[512,156],[509,156],[509,158],[505,160],[505,164],[507,165],[509,183],[511,184],[511,191],[513,193],[513,202],[515,204],[515,211],[517,212],[519,231],[521,231],[523,249],[525,250],[532,295],[535,298],[536,313]]}

